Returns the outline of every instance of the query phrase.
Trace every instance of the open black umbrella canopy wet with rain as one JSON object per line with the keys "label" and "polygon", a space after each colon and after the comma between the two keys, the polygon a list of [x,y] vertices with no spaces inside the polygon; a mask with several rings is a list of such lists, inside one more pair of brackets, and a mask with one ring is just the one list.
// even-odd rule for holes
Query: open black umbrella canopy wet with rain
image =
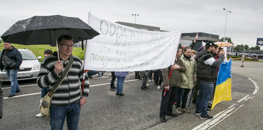
{"label": "open black umbrella canopy wet with rain", "polygon": [[60,35],[70,35],[74,43],[92,39],[99,33],[74,17],[34,16],[13,24],[2,36],[4,42],[22,45],[54,45]]}

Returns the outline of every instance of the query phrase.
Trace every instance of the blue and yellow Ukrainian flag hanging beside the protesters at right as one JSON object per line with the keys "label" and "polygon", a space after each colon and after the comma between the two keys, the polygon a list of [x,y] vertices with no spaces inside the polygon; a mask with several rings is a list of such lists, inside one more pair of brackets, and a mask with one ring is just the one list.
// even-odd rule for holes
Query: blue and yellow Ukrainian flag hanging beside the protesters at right
{"label": "blue and yellow Ukrainian flag hanging beside the protesters at right", "polygon": [[232,100],[231,98],[231,82],[232,82],[231,65],[232,65],[232,59],[230,58],[227,62],[223,62],[219,66],[219,72],[217,76],[212,109],[214,108],[216,104],[218,104],[221,101]]}

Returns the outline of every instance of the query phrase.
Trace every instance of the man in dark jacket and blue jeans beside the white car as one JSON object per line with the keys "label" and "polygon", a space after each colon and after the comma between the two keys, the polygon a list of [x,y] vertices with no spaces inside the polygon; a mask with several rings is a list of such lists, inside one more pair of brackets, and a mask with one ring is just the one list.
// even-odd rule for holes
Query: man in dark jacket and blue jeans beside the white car
{"label": "man in dark jacket and blue jeans beside the white car", "polygon": [[18,49],[12,46],[11,43],[4,43],[4,48],[0,54],[0,68],[1,71],[5,68],[6,75],[10,79],[10,95],[8,97],[13,97],[16,95],[16,92],[20,91],[17,82],[17,72],[23,58]]}

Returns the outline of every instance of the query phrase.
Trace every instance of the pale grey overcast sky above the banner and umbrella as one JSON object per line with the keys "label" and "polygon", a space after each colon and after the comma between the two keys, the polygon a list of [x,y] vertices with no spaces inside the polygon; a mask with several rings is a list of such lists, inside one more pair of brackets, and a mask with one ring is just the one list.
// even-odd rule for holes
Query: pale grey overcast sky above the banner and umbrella
{"label": "pale grey overcast sky above the banner and umbrella", "polygon": [[[256,46],[263,38],[262,0],[0,0],[0,35],[14,23],[35,15],[78,17],[88,23],[88,12],[112,22],[160,27],[161,30],[182,30],[183,33],[205,32],[226,37],[235,45]],[[207,32],[209,31],[209,32]],[[261,47],[261,50],[263,47]]]}

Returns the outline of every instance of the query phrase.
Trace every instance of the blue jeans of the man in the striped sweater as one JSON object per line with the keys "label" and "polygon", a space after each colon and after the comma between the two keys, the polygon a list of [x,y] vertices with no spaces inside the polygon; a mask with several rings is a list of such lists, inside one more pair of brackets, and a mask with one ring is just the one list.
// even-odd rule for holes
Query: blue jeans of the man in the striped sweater
{"label": "blue jeans of the man in the striped sweater", "polygon": [[51,130],[62,130],[66,116],[68,130],[77,130],[80,119],[79,101],[69,105],[50,105]]}

